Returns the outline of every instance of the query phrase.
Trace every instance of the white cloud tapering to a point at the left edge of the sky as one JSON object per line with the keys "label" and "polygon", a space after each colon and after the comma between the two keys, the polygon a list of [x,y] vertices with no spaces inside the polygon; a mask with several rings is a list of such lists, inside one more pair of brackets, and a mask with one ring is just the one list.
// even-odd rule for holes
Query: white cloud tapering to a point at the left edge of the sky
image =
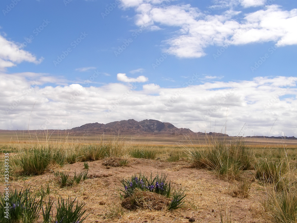
{"label": "white cloud tapering to a point at the left edge of the sky", "polygon": [[13,67],[23,61],[39,64],[44,59],[41,57],[37,59],[28,51],[21,49],[21,46],[5,39],[0,34],[0,70],[4,70],[7,67]]}

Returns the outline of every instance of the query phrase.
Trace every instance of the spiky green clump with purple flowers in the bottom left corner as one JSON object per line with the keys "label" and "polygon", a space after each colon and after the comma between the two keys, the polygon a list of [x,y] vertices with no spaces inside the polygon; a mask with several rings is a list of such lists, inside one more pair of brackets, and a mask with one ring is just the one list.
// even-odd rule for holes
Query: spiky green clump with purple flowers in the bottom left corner
{"label": "spiky green clump with purple flowers in the bottom left corner", "polygon": [[[33,223],[39,218],[39,212],[42,207],[43,195],[40,200],[37,199],[37,194],[34,196],[30,194],[30,189],[25,190],[17,189],[15,191],[7,191],[8,200],[5,196],[0,195],[0,219],[1,222],[22,222],[22,223]],[[6,195],[7,195],[6,194]],[[8,205],[6,205],[8,203]],[[9,216],[7,219],[5,216]]]}

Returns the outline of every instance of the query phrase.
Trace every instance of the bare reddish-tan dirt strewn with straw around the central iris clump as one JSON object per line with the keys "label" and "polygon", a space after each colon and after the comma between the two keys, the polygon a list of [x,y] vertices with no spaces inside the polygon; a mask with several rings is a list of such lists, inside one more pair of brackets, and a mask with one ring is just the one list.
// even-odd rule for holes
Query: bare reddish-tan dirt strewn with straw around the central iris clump
{"label": "bare reddish-tan dirt strewn with straw around the central iris clump", "polygon": [[[227,182],[218,179],[213,172],[204,169],[189,168],[190,164],[185,160],[178,162],[166,162],[146,159],[130,159],[129,167],[106,167],[104,160],[89,162],[89,179],[80,182],[77,186],[61,188],[57,184],[53,172],[33,177],[21,177],[13,179],[10,189],[31,187],[37,191],[50,185],[50,194],[47,195],[55,201],[62,195],[68,195],[74,199],[86,203],[84,208],[89,214],[86,221],[89,222],[189,222],[189,218],[195,218],[195,222],[222,222],[227,221],[226,216],[232,222],[271,222],[265,213],[261,200],[264,198],[264,187],[255,180],[250,171],[244,173],[250,182],[250,192],[247,198],[232,197],[232,190],[239,183]],[[82,162],[67,164],[59,171],[73,173],[84,171]],[[109,169],[108,169],[109,168]],[[54,167],[52,167],[54,169]],[[124,213],[114,218],[107,218],[111,213],[116,214],[120,210],[121,199],[119,188],[123,178],[131,178],[132,175],[145,173],[153,176],[157,173],[168,174],[173,188],[184,188],[187,191],[186,207],[168,211],[133,210],[124,209]],[[4,191],[4,186],[0,186]],[[48,198],[46,198],[48,199]],[[40,219],[41,220],[41,219]]]}

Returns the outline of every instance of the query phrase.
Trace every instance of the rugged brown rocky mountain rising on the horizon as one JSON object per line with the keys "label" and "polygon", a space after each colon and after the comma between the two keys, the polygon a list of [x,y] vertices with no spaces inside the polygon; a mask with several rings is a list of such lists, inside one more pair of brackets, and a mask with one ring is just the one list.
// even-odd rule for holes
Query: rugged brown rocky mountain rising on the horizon
{"label": "rugged brown rocky mountain rising on the horizon", "polygon": [[[135,121],[134,119],[107,124],[89,123],[71,129],[72,132],[106,134],[196,134],[188,128],[176,128],[171,123],[158,120]],[[202,133],[201,133],[202,134]]]}

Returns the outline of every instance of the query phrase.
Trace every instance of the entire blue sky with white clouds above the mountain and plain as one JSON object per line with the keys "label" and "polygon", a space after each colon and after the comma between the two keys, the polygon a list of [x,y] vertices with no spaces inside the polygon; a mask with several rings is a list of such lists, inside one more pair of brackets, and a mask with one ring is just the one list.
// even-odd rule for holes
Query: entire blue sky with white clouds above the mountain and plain
{"label": "entire blue sky with white clouds above the mountain and plain", "polygon": [[156,119],[297,135],[296,1],[5,0],[0,10],[0,129]]}

